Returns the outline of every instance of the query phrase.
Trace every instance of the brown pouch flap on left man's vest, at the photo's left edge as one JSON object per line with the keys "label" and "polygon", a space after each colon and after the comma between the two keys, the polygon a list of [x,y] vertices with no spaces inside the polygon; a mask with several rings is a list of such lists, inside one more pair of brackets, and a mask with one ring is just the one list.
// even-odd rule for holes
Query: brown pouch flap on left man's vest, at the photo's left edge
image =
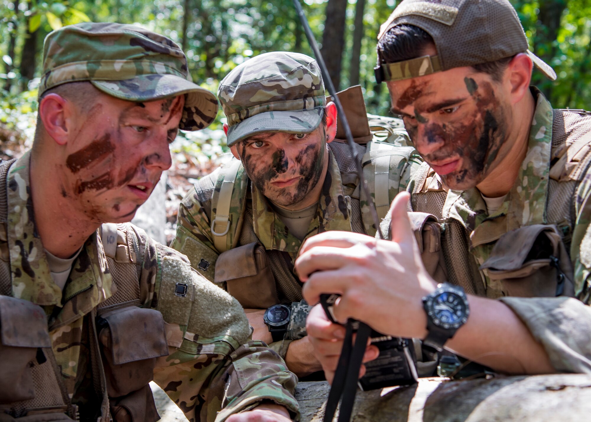
{"label": "brown pouch flap on left man's vest, at the photo's left edge", "polygon": [[17,348],[50,348],[43,309],[28,300],[0,296],[2,344]]}

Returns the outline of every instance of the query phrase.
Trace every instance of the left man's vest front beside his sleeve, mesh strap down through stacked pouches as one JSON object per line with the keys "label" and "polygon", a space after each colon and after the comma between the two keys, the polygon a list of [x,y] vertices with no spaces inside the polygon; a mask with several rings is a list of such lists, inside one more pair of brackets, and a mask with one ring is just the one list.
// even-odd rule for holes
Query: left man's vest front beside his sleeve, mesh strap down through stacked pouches
{"label": "left man's vest front beside his sleeve, mesh strap down through stacked pouches", "polygon": [[135,233],[108,223],[100,235],[116,285],[95,320],[111,416],[115,422],[155,422],[160,416],[149,383],[157,358],[168,355],[164,318],[157,310],[139,307]]}

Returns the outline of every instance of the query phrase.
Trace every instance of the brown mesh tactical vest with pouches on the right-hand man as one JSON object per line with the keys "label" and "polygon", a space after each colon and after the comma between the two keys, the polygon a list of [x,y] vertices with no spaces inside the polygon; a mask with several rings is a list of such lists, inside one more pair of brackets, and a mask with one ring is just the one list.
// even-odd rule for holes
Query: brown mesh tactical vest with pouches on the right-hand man
{"label": "brown mesh tactical vest with pouches on the right-hand man", "polygon": [[[576,219],[575,192],[591,165],[590,129],[589,112],[554,110],[547,224],[524,226],[489,239],[496,243],[485,262],[477,262],[470,254],[470,245],[478,239],[470,239],[460,222],[439,223],[447,191],[423,164],[409,186],[415,211],[410,215],[431,275],[437,281],[460,285],[467,293],[491,298],[574,296],[571,231]],[[491,285],[486,285],[484,271]],[[588,295],[583,287],[579,298],[588,300]]]}

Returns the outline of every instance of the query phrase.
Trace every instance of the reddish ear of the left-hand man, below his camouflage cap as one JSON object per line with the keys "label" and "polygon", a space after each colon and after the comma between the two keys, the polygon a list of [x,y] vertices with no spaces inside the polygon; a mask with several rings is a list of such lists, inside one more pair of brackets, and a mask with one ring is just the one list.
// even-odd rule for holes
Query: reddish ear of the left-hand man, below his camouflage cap
{"label": "reddish ear of the left-hand man, below his camouflage cap", "polygon": [[65,145],[72,131],[69,103],[62,96],[51,93],[39,103],[39,118],[43,128],[58,145]]}

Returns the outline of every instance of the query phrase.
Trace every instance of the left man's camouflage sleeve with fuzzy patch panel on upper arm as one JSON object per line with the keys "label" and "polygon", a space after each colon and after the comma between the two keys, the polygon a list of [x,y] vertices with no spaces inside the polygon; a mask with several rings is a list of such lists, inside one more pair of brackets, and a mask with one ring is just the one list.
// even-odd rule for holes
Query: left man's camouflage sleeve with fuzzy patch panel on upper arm
{"label": "left man's camouflage sleeve with fuzzy patch panel on upper arm", "polygon": [[222,422],[262,401],[298,420],[296,376],[265,343],[250,340],[238,301],[178,252],[155,249],[152,307],[164,316],[170,354],[158,359],[154,381],[191,421]]}

